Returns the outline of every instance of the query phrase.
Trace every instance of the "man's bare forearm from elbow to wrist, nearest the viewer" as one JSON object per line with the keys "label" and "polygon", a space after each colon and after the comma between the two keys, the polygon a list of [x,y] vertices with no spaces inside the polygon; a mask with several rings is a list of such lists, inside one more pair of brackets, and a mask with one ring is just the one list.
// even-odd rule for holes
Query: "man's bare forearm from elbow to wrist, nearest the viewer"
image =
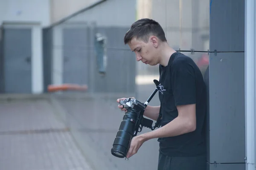
{"label": "man's bare forearm from elbow to wrist, nearest the viewer", "polygon": [[189,120],[181,117],[175,118],[172,122],[169,122],[163,127],[153,130],[148,133],[143,133],[141,136],[145,141],[154,138],[163,138],[178,136],[184,133],[189,133],[194,131],[193,126],[190,125]]}

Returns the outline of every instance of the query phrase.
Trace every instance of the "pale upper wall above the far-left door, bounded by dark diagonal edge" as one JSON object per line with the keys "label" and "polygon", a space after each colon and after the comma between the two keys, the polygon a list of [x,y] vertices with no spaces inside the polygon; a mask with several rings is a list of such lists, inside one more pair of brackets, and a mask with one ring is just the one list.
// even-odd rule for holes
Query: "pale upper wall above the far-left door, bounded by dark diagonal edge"
{"label": "pale upper wall above the far-left door, bounded by dark diagonal edge", "polygon": [[0,0],[3,21],[39,22],[42,27],[56,23],[102,0]]}

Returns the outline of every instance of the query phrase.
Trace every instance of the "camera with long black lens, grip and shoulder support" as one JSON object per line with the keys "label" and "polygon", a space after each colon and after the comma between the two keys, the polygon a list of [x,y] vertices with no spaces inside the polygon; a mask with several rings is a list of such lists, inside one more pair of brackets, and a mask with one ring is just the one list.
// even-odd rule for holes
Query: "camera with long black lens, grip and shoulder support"
{"label": "camera with long black lens, grip and shoulder support", "polygon": [[159,90],[159,82],[154,79],[154,83],[156,88],[145,103],[133,98],[126,98],[119,102],[119,105],[122,105],[123,108],[127,109],[127,112],[123,116],[121,125],[113,142],[113,147],[111,149],[111,154],[113,156],[118,158],[126,157],[131,139],[134,136],[137,136],[138,132],[142,131],[142,127],[148,127],[151,130],[154,130],[156,127],[160,127],[161,114],[159,114],[154,127],[152,127],[152,120],[143,117],[145,108]]}

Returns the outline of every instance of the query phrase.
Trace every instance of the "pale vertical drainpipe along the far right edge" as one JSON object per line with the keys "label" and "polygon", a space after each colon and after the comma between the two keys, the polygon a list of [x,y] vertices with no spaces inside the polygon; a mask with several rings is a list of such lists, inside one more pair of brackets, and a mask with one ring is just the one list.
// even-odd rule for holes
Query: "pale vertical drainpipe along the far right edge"
{"label": "pale vertical drainpipe along the far right edge", "polygon": [[255,170],[256,113],[256,2],[245,0],[244,81],[245,81],[245,163],[246,170]]}

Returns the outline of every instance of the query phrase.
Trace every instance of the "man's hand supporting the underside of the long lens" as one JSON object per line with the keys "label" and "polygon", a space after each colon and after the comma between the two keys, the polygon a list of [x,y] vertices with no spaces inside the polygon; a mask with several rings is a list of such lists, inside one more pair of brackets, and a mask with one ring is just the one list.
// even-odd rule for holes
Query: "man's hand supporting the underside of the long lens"
{"label": "man's hand supporting the underside of the long lens", "polygon": [[141,145],[145,142],[145,139],[142,135],[139,136],[134,136],[131,139],[131,144],[130,144],[130,148],[127,152],[126,157],[130,158],[131,156],[133,156],[134,154],[136,154],[138,152],[138,150],[140,149]]}

